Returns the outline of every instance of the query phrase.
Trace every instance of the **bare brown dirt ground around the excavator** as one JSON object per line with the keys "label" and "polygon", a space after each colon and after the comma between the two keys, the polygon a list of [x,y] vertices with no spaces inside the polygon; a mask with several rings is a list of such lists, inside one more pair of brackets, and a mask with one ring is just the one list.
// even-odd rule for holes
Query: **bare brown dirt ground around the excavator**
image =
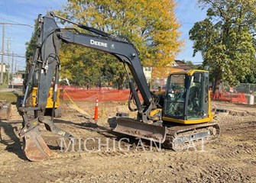
{"label": "bare brown dirt ground around the excavator", "polygon": [[[60,136],[44,132],[44,140],[54,159],[29,162],[21,150],[21,140],[14,127],[21,127],[21,117],[15,106],[8,121],[0,121],[0,182],[256,182],[256,108],[245,105],[213,102],[216,108],[228,113],[215,115],[222,129],[218,140],[202,146],[192,146],[183,152],[169,149],[138,148],[138,140],[122,141],[121,149],[115,133],[109,130],[108,117],[116,112],[128,112],[125,103],[99,103],[98,124],[86,118],[93,115],[93,105],[78,102],[83,112],[73,104],[63,103],[63,116],[57,127],[83,143],[86,149],[60,152]],[[127,137],[127,136],[125,136]],[[98,140],[98,141],[97,141]],[[104,143],[109,140],[109,147]],[[68,141],[67,141],[68,143]],[[101,151],[97,152],[99,143]],[[126,150],[131,146],[130,150]],[[126,149],[125,149],[126,148]]]}

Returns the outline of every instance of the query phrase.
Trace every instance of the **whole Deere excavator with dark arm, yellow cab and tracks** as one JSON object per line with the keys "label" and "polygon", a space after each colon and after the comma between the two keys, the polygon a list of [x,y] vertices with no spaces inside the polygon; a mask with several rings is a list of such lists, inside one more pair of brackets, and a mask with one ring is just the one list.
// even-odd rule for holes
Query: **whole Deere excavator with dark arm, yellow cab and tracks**
{"label": "whole Deere excavator with dark arm, yellow cab and tracks", "polygon": [[[79,32],[75,28],[60,28],[55,18],[75,24],[87,30],[89,34]],[[209,72],[204,70],[171,72],[167,79],[165,94],[159,97],[148,88],[138,50],[129,40],[84,24],[77,24],[53,12],[49,12],[43,18],[39,16],[38,24],[40,36],[28,74],[24,101],[19,108],[23,117],[23,127],[18,134],[24,140],[24,154],[31,161],[49,159],[53,156],[53,152],[41,136],[40,124],[44,124],[47,130],[70,140],[74,137],[58,128],[53,123],[53,117],[52,119],[44,117],[52,81],[53,106],[57,103],[60,72],[58,53],[61,43],[73,43],[101,50],[115,56],[117,61],[123,64],[131,90],[128,108],[136,111],[137,117],[135,119],[117,117],[117,124],[113,131],[163,143],[164,146],[173,150],[184,149],[191,142],[202,139],[212,140],[220,135],[219,124],[212,122],[208,90]],[[29,98],[29,86],[36,69],[39,70],[37,103],[31,108],[26,101]],[[138,97],[138,92],[141,94],[142,101]],[[132,101],[136,108],[131,108]],[[34,111],[34,119],[28,119],[28,111]]]}

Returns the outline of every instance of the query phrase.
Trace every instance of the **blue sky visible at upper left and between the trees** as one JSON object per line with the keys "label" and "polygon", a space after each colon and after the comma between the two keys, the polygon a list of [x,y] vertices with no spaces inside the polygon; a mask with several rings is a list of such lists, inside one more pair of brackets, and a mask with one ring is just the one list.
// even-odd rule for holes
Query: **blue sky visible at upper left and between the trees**
{"label": "blue sky visible at upper left and between the trees", "polygon": [[[193,63],[202,63],[203,59],[200,53],[193,57],[193,42],[189,40],[189,31],[193,24],[206,18],[206,11],[198,8],[196,0],[176,0],[177,8],[175,10],[177,20],[180,22],[180,40],[185,41],[185,47],[178,54],[176,59],[192,61]],[[34,19],[38,14],[46,14],[52,9],[60,9],[65,5],[66,0],[2,0],[0,2],[0,23],[28,24],[34,26]],[[18,56],[24,56],[25,43],[31,39],[34,28],[21,25],[5,25],[5,51],[8,52],[7,43],[9,41],[9,52]],[[2,40],[2,25],[0,25],[0,40]],[[2,43],[0,43],[2,50]],[[1,52],[0,50],[0,52]],[[5,63],[8,63],[8,57],[4,57]],[[17,69],[24,69],[25,59],[15,57]],[[11,58],[9,59],[11,62]]]}

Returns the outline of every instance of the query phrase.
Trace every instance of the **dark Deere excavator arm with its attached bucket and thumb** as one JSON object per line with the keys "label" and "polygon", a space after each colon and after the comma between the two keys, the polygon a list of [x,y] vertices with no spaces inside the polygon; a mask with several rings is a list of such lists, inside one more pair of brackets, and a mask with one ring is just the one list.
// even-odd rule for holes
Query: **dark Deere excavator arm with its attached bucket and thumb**
{"label": "dark Deere excavator arm with its attached bucket and thumb", "polygon": [[[73,138],[70,133],[60,130],[55,126],[55,124],[53,124],[53,115],[51,120],[44,117],[48,93],[52,82],[54,84],[53,104],[54,101],[57,100],[57,84],[60,72],[60,58],[58,54],[62,42],[78,44],[112,54],[124,64],[128,78],[130,79],[129,73],[126,69],[126,66],[128,66],[134,82],[138,87],[138,91],[141,93],[143,103],[141,104],[141,101],[138,98],[138,92],[136,92],[134,84],[130,79],[129,86],[138,109],[138,117],[135,122],[133,120],[122,119],[120,120],[121,124],[128,123],[131,127],[133,125],[138,126],[138,123],[152,124],[153,122],[149,117],[149,113],[152,109],[157,108],[157,102],[152,97],[147,86],[147,81],[145,79],[141,61],[138,56],[138,50],[136,50],[132,43],[121,37],[107,34],[102,30],[87,27],[83,24],[76,24],[72,21],[66,20],[65,18],[61,19],[76,24],[78,27],[88,30],[93,35],[83,34],[75,29],[63,29],[57,26],[54,17],[60,18],[52,12],[46,14],[44,18],[41,18],[41,16],[38,17],[40,24],[40,36],[37,41],[37,48],[34,51],[30,72],[28,74],[24,101],[21,108],[19,108],[19,111],[23,117],[23,128],[21,129],[19,135],[24,138],[24,152],[31,161],[47,159],[52,156],[52,152],[47,148],[46,143],[44,143],[44,140],[41,137],[40,123],[45,124],[46,129],[52,131],[53,133],[57,133],[66,138]],[[37,107],[29,108],[26,105],[26,101],[29,96],[30,82],[35,69],[39,70]],[[34,111],[35,119],[28,120],[27,111]],[[129,127],[129,129],[131,127]],[[150,128],[153,131],[156,130],[155,128]]]}

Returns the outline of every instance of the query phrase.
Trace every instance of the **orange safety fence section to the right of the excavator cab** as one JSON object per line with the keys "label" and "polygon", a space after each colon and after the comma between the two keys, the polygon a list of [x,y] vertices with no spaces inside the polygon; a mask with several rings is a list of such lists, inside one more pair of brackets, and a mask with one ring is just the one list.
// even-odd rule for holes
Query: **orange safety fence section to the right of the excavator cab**
{"label": "orange safety fence section to the right of the excavator cab", "polygon": [[212,100],[215,101],[230,101],[233,103],[247,104],[247,98],[244,93],[231,93],[231,92],[216,92],[211,93]]}

